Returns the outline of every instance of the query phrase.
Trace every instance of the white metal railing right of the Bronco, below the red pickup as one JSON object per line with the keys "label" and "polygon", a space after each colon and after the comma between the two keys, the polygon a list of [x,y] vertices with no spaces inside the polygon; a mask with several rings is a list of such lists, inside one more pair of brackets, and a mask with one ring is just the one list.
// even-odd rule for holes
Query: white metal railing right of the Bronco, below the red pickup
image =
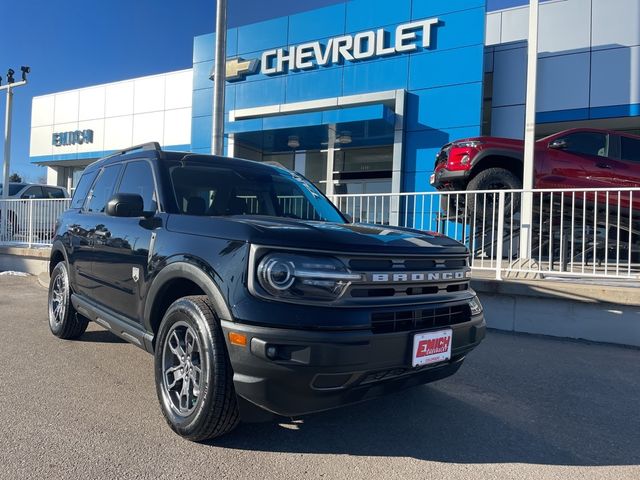
{"label": "white metal railing right of the Bronco, below the red pickup", "polygon": [[[533,197],[521,255],[520,204]],[[640,280],[640,188],[540,189],[334,195],[355,222],[450,236],[469,247],[472,268],[545,276]]]}

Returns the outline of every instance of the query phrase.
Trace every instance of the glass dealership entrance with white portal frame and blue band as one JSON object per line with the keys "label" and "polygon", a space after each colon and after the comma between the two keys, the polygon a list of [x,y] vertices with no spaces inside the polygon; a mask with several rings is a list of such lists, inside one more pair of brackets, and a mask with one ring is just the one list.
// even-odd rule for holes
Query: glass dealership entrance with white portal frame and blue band
{"label": "glass dealership entrance with white portal frame and blue band", "polygon": [[228,153],[295,170],[329,196],[398,193],[404,91],[354,97],[234,110]]}

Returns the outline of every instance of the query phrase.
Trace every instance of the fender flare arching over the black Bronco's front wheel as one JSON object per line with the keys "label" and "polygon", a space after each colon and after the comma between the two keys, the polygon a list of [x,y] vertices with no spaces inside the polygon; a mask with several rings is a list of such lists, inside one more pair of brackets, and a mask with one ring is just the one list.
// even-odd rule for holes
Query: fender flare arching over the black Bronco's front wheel
{"label": "fender flare arching over the black Bronco's front wheel", "polygon": [[189,280],[198,285],[207,297],[213,302],[214,308],[220,317],[220,320],[232,321],[231,311],[225,301],[220,289],[213,281],[211,276],[197,265],[189,263],[188,261],[180,260],[166,265],[153,279],[149,291],[147,292],[147,299],[144,305],[144,328],[147,332],[151,333],[153,328],[151,326],[151,310],[156,302],[159,292],[162,288],[171,280],[176,278]]}

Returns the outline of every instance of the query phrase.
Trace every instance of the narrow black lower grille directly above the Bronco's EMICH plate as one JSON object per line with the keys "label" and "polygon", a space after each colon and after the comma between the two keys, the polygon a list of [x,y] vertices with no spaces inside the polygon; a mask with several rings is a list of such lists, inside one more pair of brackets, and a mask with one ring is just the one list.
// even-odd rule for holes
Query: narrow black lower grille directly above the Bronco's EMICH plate
{"label": "narrow black lower grille directly above the Bronco's EMICH plate", "polygon": [[469,320],[471,320],[471,309],[468,304],[380,312],[371,315],[371,330],[373,333],[411,332],[435,327],[448,327]]}

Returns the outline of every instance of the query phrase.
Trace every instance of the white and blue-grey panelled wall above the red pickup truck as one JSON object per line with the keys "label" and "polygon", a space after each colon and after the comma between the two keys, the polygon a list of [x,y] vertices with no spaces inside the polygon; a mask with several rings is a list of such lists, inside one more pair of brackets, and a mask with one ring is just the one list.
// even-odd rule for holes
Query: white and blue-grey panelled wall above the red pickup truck
{"label": "white and blue-grey panelled wall above the red pickup truck", "polygon": [[[523,134],[528,16],[487,14],[495,135]],[[640,103],[640,0],[541,3],[538,44],[538,112]]]}

